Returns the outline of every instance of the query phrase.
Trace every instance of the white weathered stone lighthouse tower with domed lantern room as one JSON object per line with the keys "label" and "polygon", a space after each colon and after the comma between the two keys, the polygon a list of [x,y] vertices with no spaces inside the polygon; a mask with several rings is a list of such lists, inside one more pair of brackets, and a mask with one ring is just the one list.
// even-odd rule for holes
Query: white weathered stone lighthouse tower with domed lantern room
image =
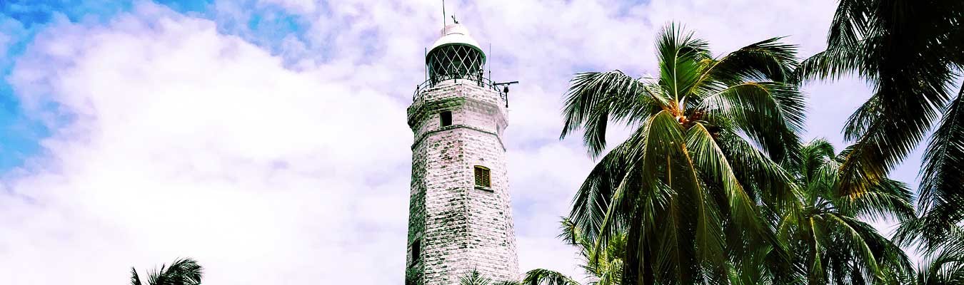
{"label": "white weathered stone lighthouse tower with domed lantern room", "polygon": [[408,109],[408,284],[458,284],[473,270],[495,281],[519,277],[502,141],[507,93],[485,78],[485,61],[458,23],[426,55],[428,79]]}

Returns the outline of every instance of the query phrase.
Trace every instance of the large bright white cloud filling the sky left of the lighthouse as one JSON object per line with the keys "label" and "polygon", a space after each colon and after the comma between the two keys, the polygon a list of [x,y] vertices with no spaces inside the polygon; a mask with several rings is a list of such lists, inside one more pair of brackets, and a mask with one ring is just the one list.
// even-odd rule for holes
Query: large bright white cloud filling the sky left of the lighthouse
{"label": "large bright white cloud filling the sky left of the lighthouse", "polygon": [[16,65],[18,93],[75,120],[4,181],[2,283],[122,283],[175,256],[213,284],[398,280],[362,272],[404,263],[381,255],[404,256],[405,105],[139,9],[57,24]]}

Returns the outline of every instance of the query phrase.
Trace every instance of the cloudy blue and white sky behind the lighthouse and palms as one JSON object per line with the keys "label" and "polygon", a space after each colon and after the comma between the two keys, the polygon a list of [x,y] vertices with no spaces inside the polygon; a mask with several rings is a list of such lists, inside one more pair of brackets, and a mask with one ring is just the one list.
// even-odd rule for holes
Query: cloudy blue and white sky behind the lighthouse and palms
{"label": "cloudy blue and white sky behind the lighthouse and palms", "polygon": [[[556,238],[594,165],[580,136],[558,138],[573,74],[656,73],[673,21],[715,55],[788,36],[807,57],[836,3],[446,4],[494,79],[520,81],[504,141],[521,269],[582,277]],[[441,28],[437,0],[3,1],[0,284],[123,284],[176,257],[205,284],[403,284],[405,110]],[[804,91],[805,139],[842,148],[870,89]],[[916,185],[919,165],[920,150],[893,175]]]}

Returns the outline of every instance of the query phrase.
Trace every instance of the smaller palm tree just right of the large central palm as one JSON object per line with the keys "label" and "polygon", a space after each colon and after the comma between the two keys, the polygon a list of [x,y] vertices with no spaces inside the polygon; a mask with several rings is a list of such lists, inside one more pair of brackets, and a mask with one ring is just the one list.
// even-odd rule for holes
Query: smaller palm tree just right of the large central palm
{"label": "smaller palm tree just right of the large central palm", "polygon": [[845,150],[823,140],[804,144],[788,164],[799,191],[781,209],[780,240],[793,262],[803,264],[809,284],[897,284],[913,272],[904,252],[858,218],[915,217],[904,183],[880,179],[859,194],[841,191]]}

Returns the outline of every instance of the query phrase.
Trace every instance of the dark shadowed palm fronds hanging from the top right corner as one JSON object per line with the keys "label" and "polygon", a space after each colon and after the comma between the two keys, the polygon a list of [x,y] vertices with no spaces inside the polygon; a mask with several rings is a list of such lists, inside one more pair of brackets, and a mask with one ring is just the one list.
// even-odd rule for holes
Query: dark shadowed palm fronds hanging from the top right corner
{"label": "dark shadowed palm fronds hanging from the top right corner", "polygon": [[798,81],[853,73],[873,87],[844,129],[855,142],[844,191],[864,191],[924,139],[961,66],[962,17],[964,2],[956,0],[840,1],[827,49],[796,73]]}

